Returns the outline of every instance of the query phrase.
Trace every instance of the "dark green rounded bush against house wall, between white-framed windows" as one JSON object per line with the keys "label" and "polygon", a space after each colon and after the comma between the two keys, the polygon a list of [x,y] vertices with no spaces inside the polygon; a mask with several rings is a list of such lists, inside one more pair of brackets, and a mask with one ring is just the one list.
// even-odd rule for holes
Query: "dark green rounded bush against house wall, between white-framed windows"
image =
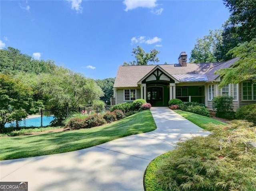
{"label": "dark green rounded bush against house wall, between white-framed windows", "polygon": [[233,112],[233,97],[217,96],[212,99],[212,108],[216,111],[217,117],[230,118]]}

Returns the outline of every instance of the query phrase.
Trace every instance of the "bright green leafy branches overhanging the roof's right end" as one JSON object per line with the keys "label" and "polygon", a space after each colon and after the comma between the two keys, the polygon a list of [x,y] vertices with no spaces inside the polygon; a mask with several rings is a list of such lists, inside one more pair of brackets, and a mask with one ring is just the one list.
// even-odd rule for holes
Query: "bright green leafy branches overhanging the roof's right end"
{"label": "bright green leafy branches overhanging the roof's right end", "polygon": [[245,80],[252,80],[253,83],[256,83],[256,39],[242,43],[228,53],[240,59],[231,68],[216,71],[216,73],[224,76],[220,87],[228,83],[236,84]]}

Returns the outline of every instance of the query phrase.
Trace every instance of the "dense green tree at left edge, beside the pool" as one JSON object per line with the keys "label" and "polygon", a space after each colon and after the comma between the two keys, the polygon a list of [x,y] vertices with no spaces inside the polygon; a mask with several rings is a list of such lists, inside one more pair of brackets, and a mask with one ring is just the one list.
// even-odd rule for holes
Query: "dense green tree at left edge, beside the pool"
{"label": "dense green tree at left edge, beside the pool", "polygon": [[10,75],[0,74],[0,132],[7,122],[38,112],[40,101],[33,100],[32,89]]}

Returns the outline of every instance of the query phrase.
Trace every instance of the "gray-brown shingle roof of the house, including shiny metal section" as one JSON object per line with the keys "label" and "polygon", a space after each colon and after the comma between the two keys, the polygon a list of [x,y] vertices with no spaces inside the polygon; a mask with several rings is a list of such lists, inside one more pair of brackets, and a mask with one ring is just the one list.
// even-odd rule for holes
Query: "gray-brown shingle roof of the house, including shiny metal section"
{"label": "gray-brown shingle roof of the house, including shiny metal section", "polygon": [[[214,71],[220,68],[230,67],[238,58],[227,62],[216,63],[188,63],[186,67],[179,64],[158,65],[176,79],[186,82],[212,81],[218,77]],[[145,75],[152,71],[157,65],[119,66],[114,87],[137,87]],[[197,74],[197,75],[192,75]],[[180,75],[180,76],[179,76]]]}

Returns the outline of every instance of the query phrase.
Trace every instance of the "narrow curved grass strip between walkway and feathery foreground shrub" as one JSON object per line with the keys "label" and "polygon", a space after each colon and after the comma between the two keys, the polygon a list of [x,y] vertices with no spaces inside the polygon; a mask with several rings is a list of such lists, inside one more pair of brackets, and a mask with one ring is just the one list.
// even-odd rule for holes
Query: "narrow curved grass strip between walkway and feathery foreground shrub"
{"label": "narrow curved grass strip between walkway and feathery foreground shrub", "polygon": [[168,158],[171,154],[172,152],[166,152],[149,163],[144,175],[145,191],[163,191],[158,184],[156,170],[159,169],[164,159]]}

